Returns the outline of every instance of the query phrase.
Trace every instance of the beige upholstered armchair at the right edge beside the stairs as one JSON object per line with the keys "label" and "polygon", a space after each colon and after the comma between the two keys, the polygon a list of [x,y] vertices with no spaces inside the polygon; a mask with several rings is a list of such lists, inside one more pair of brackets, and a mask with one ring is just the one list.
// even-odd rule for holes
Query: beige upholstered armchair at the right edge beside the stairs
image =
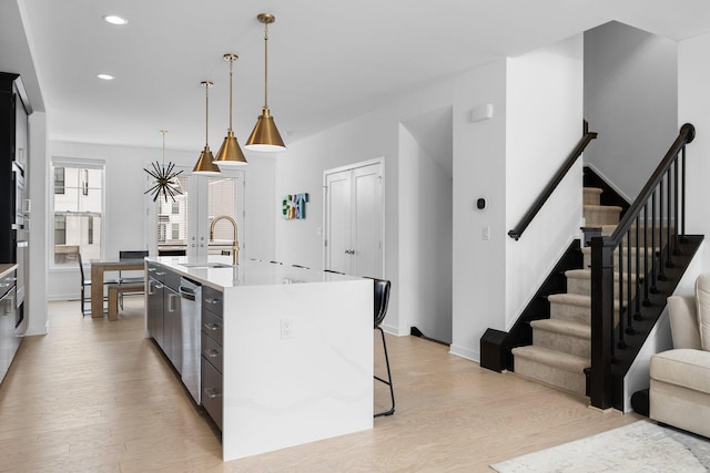
{"label": "beige upholstered armchair at the right edge beside the stairs", "polygon": [[673,349],[651,357],[649,417],[710,438],[710,275],[694,296],[669,297],[668,309]]}

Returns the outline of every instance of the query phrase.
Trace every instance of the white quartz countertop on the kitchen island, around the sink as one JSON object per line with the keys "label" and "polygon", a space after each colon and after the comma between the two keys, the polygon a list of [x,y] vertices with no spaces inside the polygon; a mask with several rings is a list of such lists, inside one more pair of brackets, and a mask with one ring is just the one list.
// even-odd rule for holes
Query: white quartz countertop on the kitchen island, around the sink
{"label": "white quartz countertop on the kitchen island, around the sink", "polygon": [[233,266],[231,256],[210,256],[206,260],[190,259],[186,256],[159,256],[148,257],[145,260],[148,263],[158,263],[178,274],[215,289],[240,286],[273,286],[362,279],[353,276],[296,268],[266,261],[247,260],[237,266]]}

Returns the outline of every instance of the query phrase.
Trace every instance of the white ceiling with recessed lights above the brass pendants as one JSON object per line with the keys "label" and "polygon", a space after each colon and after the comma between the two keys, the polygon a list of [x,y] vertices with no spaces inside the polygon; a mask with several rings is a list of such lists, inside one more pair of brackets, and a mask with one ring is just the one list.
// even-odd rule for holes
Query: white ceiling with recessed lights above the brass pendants
{"label": "white ceiling with recessed lights above the brass pendants", "polygon": [[[682,8],[680,8],[682,6]],[[50,138],[194,150],[227,127],[244,143],[263,105],[263,25],[272,12],[268,105],[286,143],[427,83],[610,20],[674,40],[710,31],[707,0],[2,0],[0,70],[22,73]],[[106,13],[130,23],[110,25]],[[22,25],[27,40],[22,37]],[[27,51],[32,61],[28,61]],[[115,75],[111,82],[99,72]],[[40,95],[41,89],[41,95]]]}

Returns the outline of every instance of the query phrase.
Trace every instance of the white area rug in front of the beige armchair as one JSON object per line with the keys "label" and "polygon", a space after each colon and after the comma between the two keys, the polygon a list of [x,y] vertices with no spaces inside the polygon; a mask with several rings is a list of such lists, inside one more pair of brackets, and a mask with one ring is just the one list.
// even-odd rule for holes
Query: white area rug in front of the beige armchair
{"label": "white area rug in front of the beige armchair", "polygon": [[710,440],[639,421],[490,466],[500,473],[706,473]]}

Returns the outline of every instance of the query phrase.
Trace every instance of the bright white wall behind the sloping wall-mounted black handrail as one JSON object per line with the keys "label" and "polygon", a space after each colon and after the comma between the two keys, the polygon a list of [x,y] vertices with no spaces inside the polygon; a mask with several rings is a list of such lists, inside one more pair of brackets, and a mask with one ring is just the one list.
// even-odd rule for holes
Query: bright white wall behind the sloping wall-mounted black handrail
{"label": "bright white wall behind the sloping wall-mounted black handrail", "polygon": [[[582,131],[582,35],[508,60],[506,227],[513,228]],[[580,236],[581,158],[519,240],[506,237],[506,328]],[[483,335],[483,333],[481,333]]]}

